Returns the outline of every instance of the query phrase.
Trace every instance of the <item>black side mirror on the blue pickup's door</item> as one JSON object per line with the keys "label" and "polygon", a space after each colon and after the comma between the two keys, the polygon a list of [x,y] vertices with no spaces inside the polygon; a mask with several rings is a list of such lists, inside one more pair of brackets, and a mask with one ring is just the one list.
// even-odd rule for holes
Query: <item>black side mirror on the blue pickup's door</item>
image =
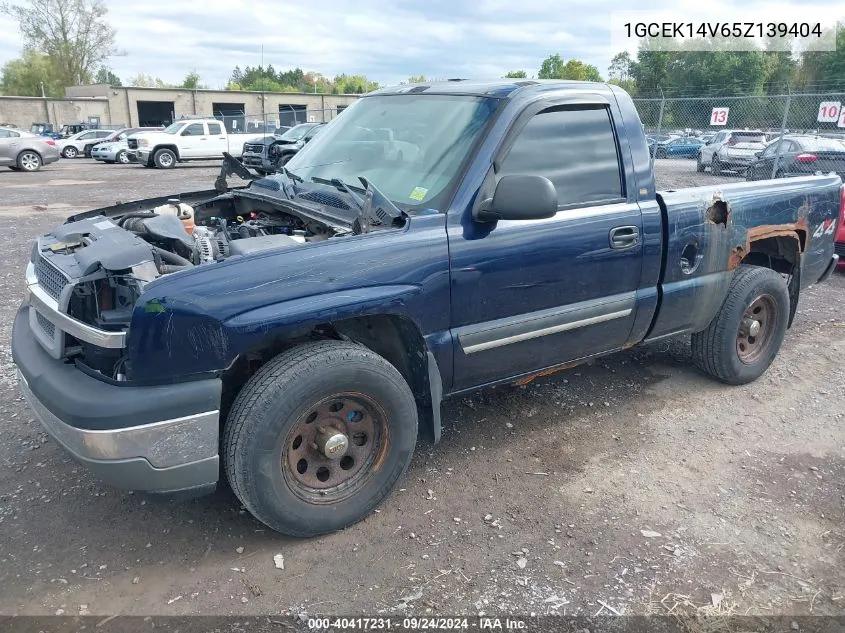
{"label": "black side mirror on the blue pickup's door", "polygon": [[544,220],[557,213],[557,191],[543,176],[502,176],[493,199],[473,215],[479,222]]}

